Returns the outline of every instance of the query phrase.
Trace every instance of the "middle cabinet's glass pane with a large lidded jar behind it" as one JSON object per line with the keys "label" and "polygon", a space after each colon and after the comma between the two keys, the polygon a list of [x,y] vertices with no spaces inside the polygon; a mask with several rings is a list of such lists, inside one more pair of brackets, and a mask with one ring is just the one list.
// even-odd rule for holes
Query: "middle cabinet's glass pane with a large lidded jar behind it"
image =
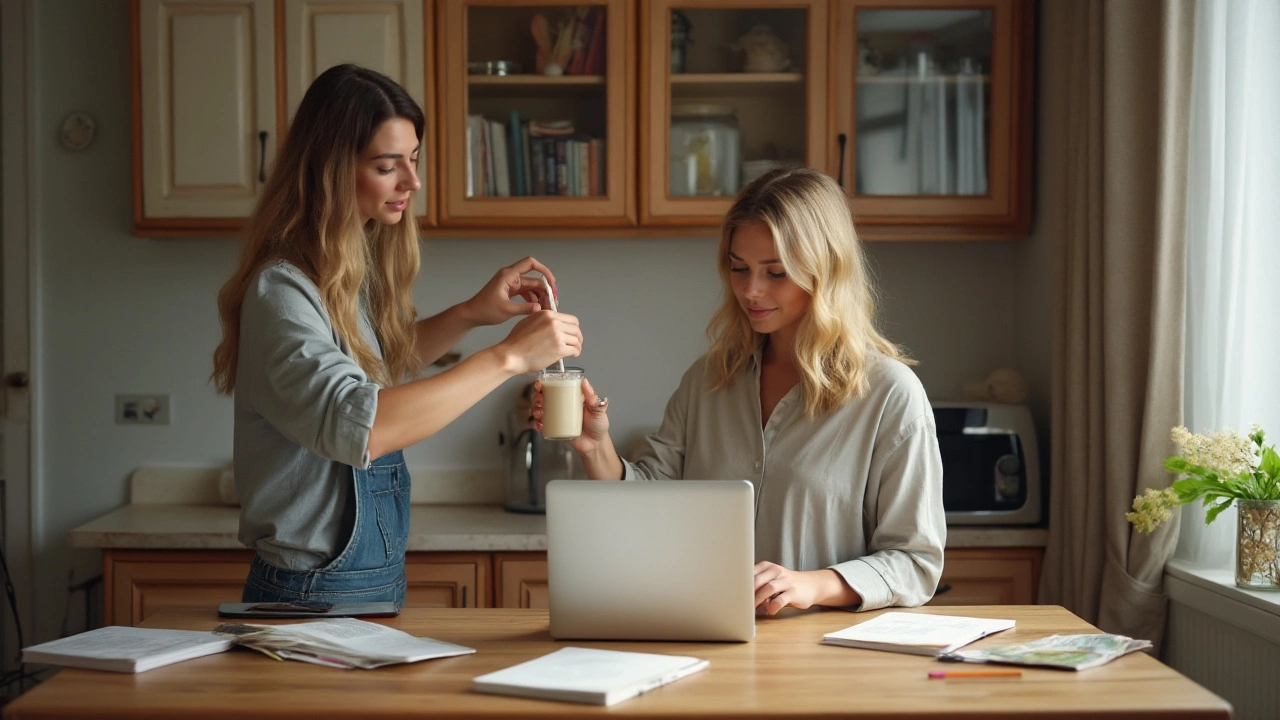
{"label": "middle cabinet's glass pane with a large lidded jar behind it", "polygon": [[668,197],[732,197],[805,152],[804,9],[671,13]]}

